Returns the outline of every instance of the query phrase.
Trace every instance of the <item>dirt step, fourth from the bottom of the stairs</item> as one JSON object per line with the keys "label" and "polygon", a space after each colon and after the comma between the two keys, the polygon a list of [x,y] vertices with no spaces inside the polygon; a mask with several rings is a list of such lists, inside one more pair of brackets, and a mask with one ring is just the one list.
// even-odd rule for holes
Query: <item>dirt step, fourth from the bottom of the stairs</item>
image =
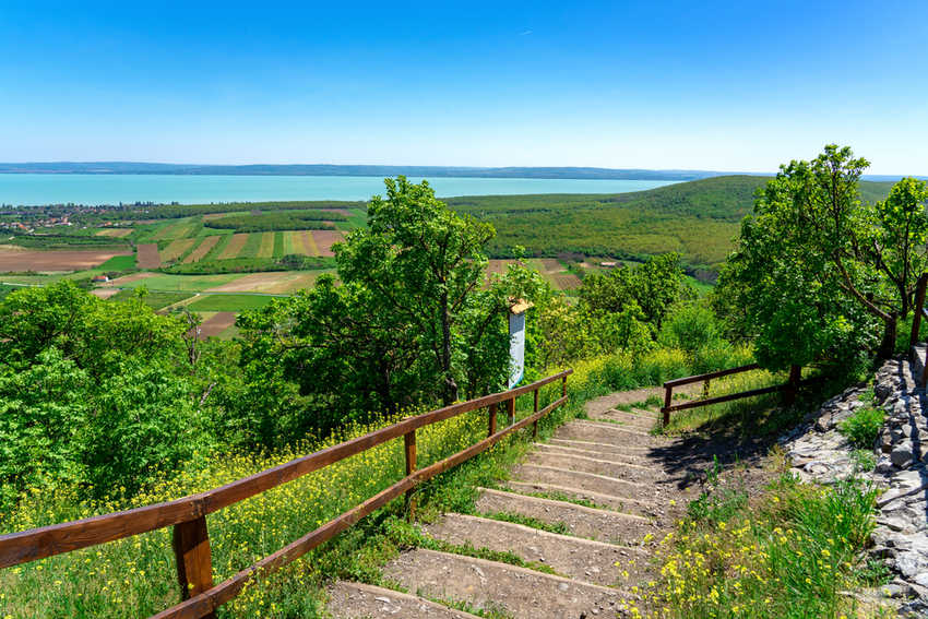
{"label": "dirt step, fourth from the bottom of the stairs", "polygon": [[641,515],[487,488],[480,489],[477,511],[533,517],[552,525],[563,523],[571,535],[612,544],[632,544],[656,531],[651,520]]}

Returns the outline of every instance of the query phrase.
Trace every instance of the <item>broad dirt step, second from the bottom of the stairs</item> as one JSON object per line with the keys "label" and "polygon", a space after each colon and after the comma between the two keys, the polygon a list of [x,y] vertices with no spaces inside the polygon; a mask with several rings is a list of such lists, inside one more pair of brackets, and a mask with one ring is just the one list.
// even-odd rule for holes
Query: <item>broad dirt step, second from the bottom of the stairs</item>
{"label": "broad dirt step, second from the bottom of the stairs", "polygon": [[622,598],[615,588],[423,548],[403,552],[383,572],[417,595],[515,618],[614,616]]}

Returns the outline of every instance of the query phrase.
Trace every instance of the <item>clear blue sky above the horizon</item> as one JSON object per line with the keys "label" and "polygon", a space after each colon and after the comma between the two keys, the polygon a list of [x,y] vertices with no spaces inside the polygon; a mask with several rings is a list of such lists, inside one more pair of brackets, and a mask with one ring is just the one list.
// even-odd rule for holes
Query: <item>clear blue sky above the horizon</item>
{"label": "clear blue sky above the horizon", "polygon": [[[928,174],[928,2],[0,3],[0,160]],[[659,7],[658,7],[659,4]]]}

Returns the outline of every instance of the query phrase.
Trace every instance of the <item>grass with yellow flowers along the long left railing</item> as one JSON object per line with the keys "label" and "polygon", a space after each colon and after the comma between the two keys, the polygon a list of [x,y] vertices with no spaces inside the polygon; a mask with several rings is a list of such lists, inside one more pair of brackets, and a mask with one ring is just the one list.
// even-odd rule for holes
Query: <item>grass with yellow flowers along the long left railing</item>
{"label": "grass with yellow flowers along the long left railing", "polygon": [[[595,380],[598,362],[581,364],[571,377],[571,404],[542,420],[549,435],[582,403],[606,389]],[[542,405],[560,394],[560,384],[543,390]],[[531,395],[520,398],[520,416],[531,410]],[[191,462],[181,473],[133,498],[116,489],[108,500],[83,500],[73,488],[24,497],[20,508],[0,519],[3,532],[22,531],[98,513],[169,500],[202,491],[287,462],[305,453],[360,436],[415,413],[384,417],[369,426],[348,425],[324,440],[308,439],[293,449],[254,456],[213,453]],[[426,466],[486,436],[486,410],[476,410],[417,432],[419,466]],[[532,443],[531,431],[508,438],[492,449],[424,484],[416,492],[419,513],[435,517],[444,511],[473,513],[476,487],[505,475]],[[214,579],[229,578],[293,539],[373,496],[404,474],[403,441],[396,440],[313,472],[289,484],[206,516]],[[331,579],[353,579],[385,585],[380,566],[411,544],[402,499],[393,501],[330,543],[279,572],[261,575],[226,605],[221,617],[322,616],[322,587]],[[419,541],[412,539],[412,543]],[[179,600],[170,531],[165,528],[96,548],[80,550],[0,571],[0,617],[148,616]]]}

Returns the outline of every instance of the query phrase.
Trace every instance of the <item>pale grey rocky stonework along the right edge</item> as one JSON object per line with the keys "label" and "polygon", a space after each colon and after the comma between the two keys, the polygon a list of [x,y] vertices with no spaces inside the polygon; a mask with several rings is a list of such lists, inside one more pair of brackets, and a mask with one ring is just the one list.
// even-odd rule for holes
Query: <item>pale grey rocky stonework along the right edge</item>
{"label": "pale grey rocky stonework along the right edge", "polygon": [[875,471],[862,471],[854,448],[838,431],[855,410],[870,406],[859,385],[825,402],[781,441],[794,471],[807,480],[834,483],[864,478],[882,490],[871,556],[896,574],[883,595],[904,599],[902,615],[928,615],[928,397],[914,377],[921,376],[924,348],[915,361],[890,359],[877,371],[872,405],[887,413],[873,445]]}

